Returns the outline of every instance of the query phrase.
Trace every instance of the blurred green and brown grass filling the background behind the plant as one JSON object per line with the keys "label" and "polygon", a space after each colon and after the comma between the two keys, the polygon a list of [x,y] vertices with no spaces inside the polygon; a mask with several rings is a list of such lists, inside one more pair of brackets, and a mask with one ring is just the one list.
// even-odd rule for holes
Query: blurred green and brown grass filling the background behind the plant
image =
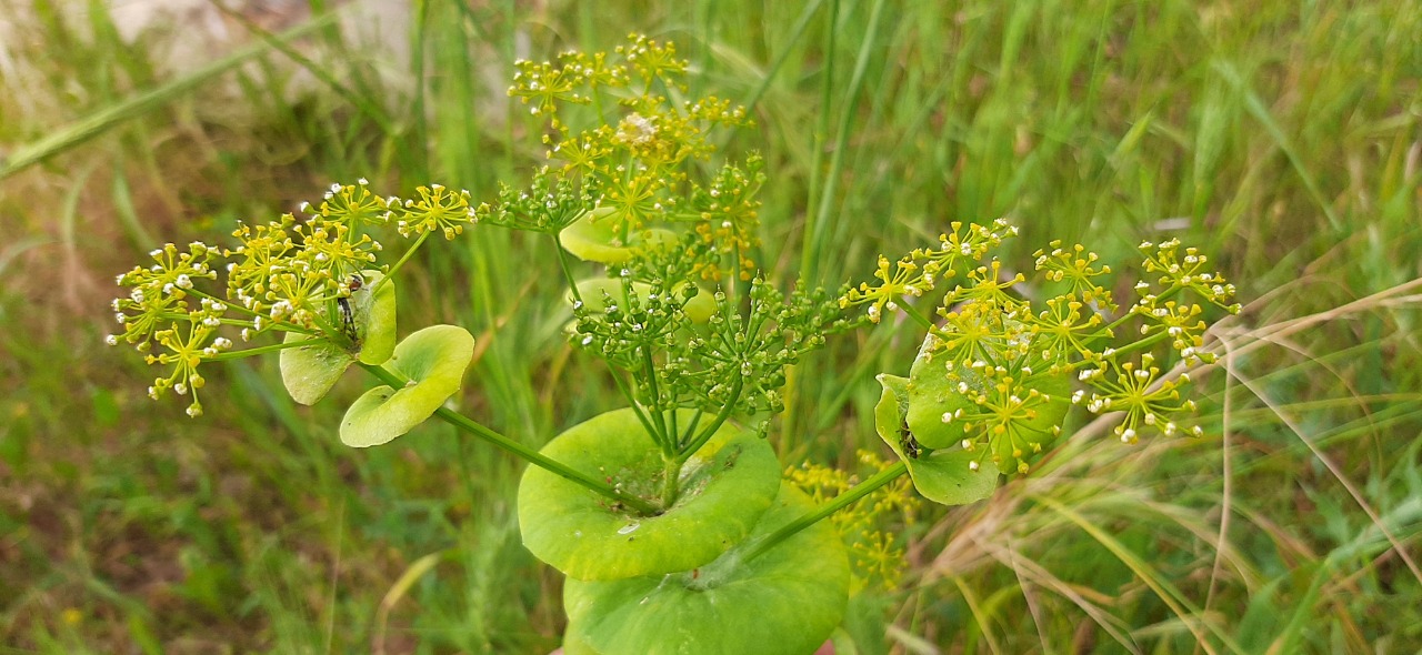
{"label": "blurred green and brown grass filling the background behind the plant", "polygon": [[[191,421],[101,338],[109,276],[155,242],[357,176],[488,196],[540,156],[502,94],[513,58],[627,31],[677,41],[695,90],[755,101],[728,146],[766,158],[776,280],[859,278],[1005,215],[1014,266],[1049,239],[1118,261],[1177,236],[1249,304],[1204,377],[1206,438],[1128,449],[1084,425],[993,500],[926,511],[904,587],[856,602],[863,652],[1422,648],[1418,3],[434,1],[388,36],[417,45],[404,68],[316,26],[186,74],[104,4],[63,7],[13,11],[0,68],[3,648],[555,648],[515,462],[437,425],[344,449],[341,404],[294,406],[274,361],[215,371],[223,402]],[[563,344],[546,244],[478,229],[422,266],[402,320],[478,335],[469,413],[542,443],[619,402]],[[880,330],[806,362],[785,459],[877,448],[872,374],[912,351]]]}

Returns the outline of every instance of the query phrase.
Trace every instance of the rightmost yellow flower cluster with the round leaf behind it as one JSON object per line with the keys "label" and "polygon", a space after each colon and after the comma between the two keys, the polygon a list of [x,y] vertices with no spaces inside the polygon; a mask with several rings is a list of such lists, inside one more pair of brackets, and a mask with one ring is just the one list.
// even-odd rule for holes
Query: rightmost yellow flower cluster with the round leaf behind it
{"label": "rightmost yellow flower cluster with the round leaf behind it", "polygon": [[[1008,276],[988,256],[1015,227],[1003,220],[951,227],[936,249],[893,264],[880,259],[879,283],[840,298],[843,307],[865,305],[875,323],[902,311],[927,332],[900,398],[903,452],[961,449],[971,470],[1025,473],[1025,458],[1061,433],[1074,404],[1119,412],[1115,432],[1126,443],[1148,431],[1200,433],[1180,428],[1194,409],[1180,395],[1190,379],[1185,369],[1212,361],[1199,303],[1239,311],[1233,284],[1209,271],[1203,254],[1182,253],[1176,240],[1142,244],[1140,269],[1155,278],[1135,286],[1139,300],[1122,313],[1099,281],[1111,267],[1084,246],[1052,242],[1035,253],[1039,286],[1031,296],[1047,297],[1034,303],[1018,293],[1027,277]],[[931,315],[916,307],[947,283],[953,287]],[[1163,374],[1158,361],[1177,368]]]}

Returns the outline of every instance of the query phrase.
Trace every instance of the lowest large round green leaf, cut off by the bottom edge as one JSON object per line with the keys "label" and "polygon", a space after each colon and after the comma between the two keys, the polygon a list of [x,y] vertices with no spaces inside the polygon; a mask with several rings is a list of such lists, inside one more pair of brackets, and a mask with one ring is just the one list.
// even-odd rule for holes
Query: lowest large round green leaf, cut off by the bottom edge
{"label": "lowest large round green leaf, cut off by the bottom edge", "polygon": [[[755,536],[812,510],[802,492],[782,486]],[[848,602],[845,546],[820,521],[749,561],[731,551],[701,570],[670,575],[569,580],[565,644],[579,652],[638,655],[805,655],[829,638]]]}

